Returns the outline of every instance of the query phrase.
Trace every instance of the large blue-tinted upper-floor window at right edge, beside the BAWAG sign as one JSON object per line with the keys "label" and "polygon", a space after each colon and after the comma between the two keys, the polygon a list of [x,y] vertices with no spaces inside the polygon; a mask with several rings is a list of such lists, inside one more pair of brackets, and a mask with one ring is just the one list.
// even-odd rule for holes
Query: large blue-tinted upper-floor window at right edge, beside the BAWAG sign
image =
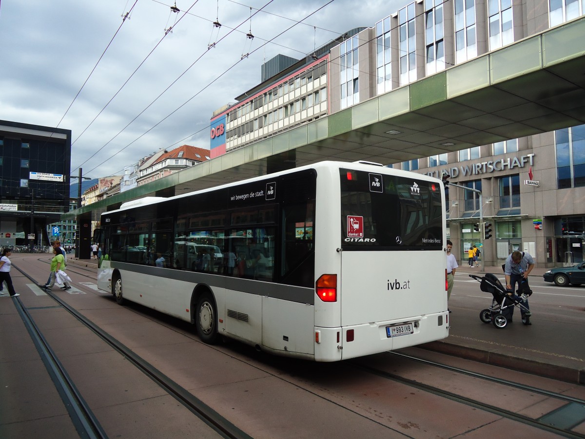
{"label": "large blue-tinted upper-floor window at right edge, beside the BAWAG sign", "polygon": [[585,125],[555,131],[559,189],[585,186]]}

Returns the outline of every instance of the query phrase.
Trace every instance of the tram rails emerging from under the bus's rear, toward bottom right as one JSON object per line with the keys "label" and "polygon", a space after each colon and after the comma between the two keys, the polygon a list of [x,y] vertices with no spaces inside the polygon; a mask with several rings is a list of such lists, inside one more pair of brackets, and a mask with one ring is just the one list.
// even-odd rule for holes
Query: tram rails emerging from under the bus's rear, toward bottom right
{"label": "tram rails emerging from under the bus's rear, toward bottom right", "polygon": [[[407,359],[409,361],[424,363],[427,366],[446,369],[450,372],[455,372],[455,373],[459,373],[462,375],[471,376],[471,377],[476,378],[476,379],[481,379],[481,380],[486,380],[489,382],[497,383],[498,385],[503,385],[505,387],[513,387],[515,389],[519,389],[519,390],[522,390],[525,392],[536,393],[538,395],[546,396],[549,398],[562,400],[563,402],[566,402],[567,404],[577,404],[577,405],[581,406],[583,408],[583,410],[585,411],[585,400],[582,400],[579,398],[575,398],[575,397],[567,396],[567,395],[562,395],[561,393],[550,392],[549,390],[544,390],[544,389],[540,389],[538,387],[524,385],[522,383],[512,382],[510,380],[505,380],[502,378],[497,378],[494,376],[485,375],[483,373],[467,371],[466,369],[456,368],[454,366],[445,365],[443,363],[438,363],[438,362],[429,361],[429,360],[422,359],[422,358],[417,358],[417,357],[412,356],[412,355],[402,354],[401,352],[388,351],[388,352],[386,352],[386,354],[398,356],[400,358]],[[424,392],[432,393],[433,395],[445,397],[446,399],[465,404],[466,406],[474,407],[475,409],[484,410],[484,411],[487,411],[489,413],[493,413],[497,416],[501,416],[501,417],[504,417],[504,418],[512,420],[512,421],[524,423],[528,426],[539,428],[540,430],[546,431],[548,433],[557,434],[559,436],[567,437],[567,438],[585,438],[584,434],[570,431],[571,428],[574,428],[574,427],[578,426],[580,423],[582,423],[583,419],[574,421],[574,423],[570,424],[566,428],[558,427],[558,426],[555,426],[555,425],[549,423],[547,421],[547,419],[548,419],[547,416],[543,416],[541,418],[534,419],[532,417],[516,413],[515,411],[503,409],[501,407],[494,406],[493,404],[481,402],[480,400],[473,399],[471,397],[457,395],[456,393],[450,392],[449,390],[445,390],[445,389],[441,389],[440,387],[428,385],[428,384],[425,384],[425,383],[418,381],[418,380],[405,378],[404,376],[400,376],[396,373],[381,371],[380,369],[360,364],[357,361],[351,361],[351,363],[352,363],[353,367],[355,367],[363,372],[367,372],[367,373],[370,373],[372,375],[379,376],[380,378],[390,379],[394,382],[398,382],[398,383],[401,383],[401,384],[404,384],[404,385],[407,385],[410,387],[414,387],[415,389],[422,390]],[[554,411],[558,411],[558,410],[553,410],[553,412]]]}

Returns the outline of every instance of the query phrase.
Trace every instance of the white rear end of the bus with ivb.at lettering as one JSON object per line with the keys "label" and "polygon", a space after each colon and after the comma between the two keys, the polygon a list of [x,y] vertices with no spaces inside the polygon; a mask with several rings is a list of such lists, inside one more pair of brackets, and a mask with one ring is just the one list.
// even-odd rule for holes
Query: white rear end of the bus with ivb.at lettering
{"label": "white rear end of the bus with ivb.at lettering", "polygon": [[441,181],[361,164],[328,172],[317,184],[316,361],[448,337]]}

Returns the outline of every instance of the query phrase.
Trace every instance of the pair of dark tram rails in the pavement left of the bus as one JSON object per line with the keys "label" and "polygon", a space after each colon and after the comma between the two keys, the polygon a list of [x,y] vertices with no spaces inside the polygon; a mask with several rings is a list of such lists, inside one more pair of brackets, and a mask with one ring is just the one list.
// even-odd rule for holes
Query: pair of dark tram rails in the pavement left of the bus
{"label": "pair of dark tram rails in the pavement left of the bus", "polygon": [[[21,270],[15,264],[12,267],[22,273],[23,276],[31,280],[35,284],[39,285],[32,276],[25,271]],[[94,324],[91,320],[85,317],[83,314],[71,307],[66,301],[61,299],[51,291],[46,291],[46,294],[51,297],[60,307],[63,307],[68,313],[73,315],[81,324],[91,330],[95,335],[101,338],[106,344],[112,347],[115,351],[123,356],[126,360],[132,363],[139,371],[144,373],[147,377],[152,379],[157,385],[164,389],[168,395],[174,397],[180,402],[187,410],[191,411],[195,416],[201,419],[207,424],[212,430],[220,434],[225,438],[233,439],[251,439],[252,437],[240,430],[237,426],[228,421],[225,417],[221,416],[217,411],[209,407],[207,404],[202,402],[200,399],[192,395],[192,393],[185,390],[183,387],[178,385],[172,379],[168,378],[167,375],[154,368],[149,362],[145,361],[142,357],[137,355],[132,349],[126,347],[118,339],[112,337],[108,332],[102,330],[98,325]],[[38,344],[40,348],[39,354],[43,357],[43,361],[46,358],[47,371],[53,379],[57,390],[59,391],[67,409],[70,411],[71,419],[73,420],[75,427],[80,432],[80,437],[90,438],[105,438],[107,435],[104,430],[99,426],[98,420],[91,413],[91,409],[85,404],[77,389],[75,389],[74,383],[68,378],[67,372],[59,362],[59,359],[54,355],[50,345],[44,339],[42,332],[39,330],[35,321],[33,320],[26,307],[22,304],[18,298],[16,300],[16,306],[20,317],[25,321],[27,330],[33,338],[35,345]]]}

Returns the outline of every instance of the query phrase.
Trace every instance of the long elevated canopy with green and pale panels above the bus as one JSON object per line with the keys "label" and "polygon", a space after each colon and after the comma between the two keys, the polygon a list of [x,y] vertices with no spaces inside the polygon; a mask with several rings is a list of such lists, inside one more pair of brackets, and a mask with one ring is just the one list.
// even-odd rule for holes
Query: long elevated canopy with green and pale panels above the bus
{"label": "long elevated canopy with green and pale panels above the bus", "polygon": [[585,18],[63,215],[322,160],[384,164],[585,124]]}

